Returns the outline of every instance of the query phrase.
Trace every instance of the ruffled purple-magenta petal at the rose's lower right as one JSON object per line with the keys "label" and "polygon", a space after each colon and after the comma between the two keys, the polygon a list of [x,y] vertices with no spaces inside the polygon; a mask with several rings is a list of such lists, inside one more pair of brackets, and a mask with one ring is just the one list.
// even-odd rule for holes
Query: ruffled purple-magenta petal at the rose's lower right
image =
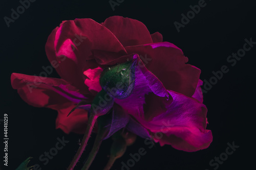
{"label": "ruffled purple-magenta petal at the rose's lower right", "polygon": [[162,113],[146,122],[139,122],[153,133],[162,132],[164,137],[155,139],[161,145],[171,144],[183,151],[197,151],[207,148],[212,141],[212,135],[206,130],[205,105],[193,98],[168,90],[173,97],[172,104]]}

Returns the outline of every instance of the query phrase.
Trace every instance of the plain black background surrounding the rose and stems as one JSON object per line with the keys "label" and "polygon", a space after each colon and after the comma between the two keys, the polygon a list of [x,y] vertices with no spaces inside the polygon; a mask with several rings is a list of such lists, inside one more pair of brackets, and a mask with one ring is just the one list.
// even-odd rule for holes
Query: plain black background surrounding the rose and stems
{"label": "plain black background surrounding the rose and stems", "polygon": [[[55,130],[56,111],[29,106],[12,89],[12,72],[27,75],[39,75],[42,66],[50,65],[45,54],[45,43],[51,31],[62,20],[92,18],[102,22],[113,15],[130,17],[142,21],[150,33],[160,32],[163,40],[180,47],[188,57],[189,64],[202,70],[200,79],[209,80],[212,71],[227,65],[229,71],[216,85],[204,94],[204,104],[208,108],[207,129],[212,130],[214,139],[210,147],[198,152],[187,153],[165,145],[149,149],[144,139],[137,138],[134,145],[127,148],[125,155],[119,158],[112,169],[121,169],[121,162],[129,160],[130,153],[145,148],[146,154],[131,169],[214,169],[209,161],[225,152],[227,142],[240,147],[218,169],[248,169],[254,163],[250,154],[255,144],[250,120],[253,120],[254,106],[254,58],[256,45],[231,66],[227,57],[243,47],[244,39],[255,36],[255,7],[253,1],[217,1],[206,0],[206,6],[177,32],[174,22],[181,22],[181,14],[197,5],[199,1],[134,1],[125,0],[112,10],[109,1],[35,1],[8,28],[4,16],[10,17],[11,9],[20,6],[15,1],[1,1],[1,119],[8,114],[9,121],[9,166],[3,165],[1,145],[1,169],[15,169],[29,156],[30,165],[39,164],[42,169],[66,169],[75,151],[78,139],[82,135],[65,134]],[[54,72],[50,77],[59,78]],[[3,128],[3,122],[1,129]],[[252,123],[253,124],[253,123]],[[4,131],[1,130],[1,138]],[[65,136],[70,142],[58,152],[47,165],[38,157],[49,152],[55,146],[57,137]],[[93,139],[89,141],[89,147]],[[102,169],[108,160],[112,140],[103,141],[100,151],[91,169]],[[254,142],[252,142],[254,143]],[[3,144],[3,143],[2,143]],[[88,150],[82,156],[87,157]],[[82,161],[77,166],[80,169]],[[253,167],[254,168],[254,167]],[[253,169],[252,168],[252,169]]]}

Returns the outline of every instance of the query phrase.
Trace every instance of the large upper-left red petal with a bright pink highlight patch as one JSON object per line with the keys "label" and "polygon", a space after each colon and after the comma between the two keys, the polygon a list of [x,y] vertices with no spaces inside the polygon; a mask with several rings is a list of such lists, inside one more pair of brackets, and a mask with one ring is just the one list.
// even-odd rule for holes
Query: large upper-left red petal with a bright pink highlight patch
{"label": "large upper-left red petal with a bright pink highlight patch", "polygon": [[[93,56],[93,51],[126,54],[122,44],[108,29],[88,18],[63,21],[46,43],[48,59],[51,63],[57,62],[60,77],[79,89],[87,89],[83,71],[94,66],[88,60],[96,57],[102,63],[108,62],[109,58],[101,61],[97,55]],[[113,60],[112,56],[109,57]]]}

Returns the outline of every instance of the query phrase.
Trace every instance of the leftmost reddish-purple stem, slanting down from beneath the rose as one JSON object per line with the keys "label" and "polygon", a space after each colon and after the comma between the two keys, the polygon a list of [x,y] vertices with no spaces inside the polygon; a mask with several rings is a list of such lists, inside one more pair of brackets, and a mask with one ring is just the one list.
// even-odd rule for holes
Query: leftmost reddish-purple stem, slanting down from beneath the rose
{"label": "leftmost reddish-purple stem, slanting down from beneath the rose", "polygon": [[89,116],[89,120],[88,120],[88,124],[87,124],[87,128],[86,128],[86,133],[83,136],[81,145],[80,145],[75,157],[73,158],[71,164],[69,165],[68,170],[73,170],[74,169],[74,167],[76,166],[76,163],[79,161],[83,151],[86,149],[87,142],[88,142],[89,138],[91,137],[93,126],[96,122],[97,117],[98,116],[96,116],[95,114],[91,114]]}

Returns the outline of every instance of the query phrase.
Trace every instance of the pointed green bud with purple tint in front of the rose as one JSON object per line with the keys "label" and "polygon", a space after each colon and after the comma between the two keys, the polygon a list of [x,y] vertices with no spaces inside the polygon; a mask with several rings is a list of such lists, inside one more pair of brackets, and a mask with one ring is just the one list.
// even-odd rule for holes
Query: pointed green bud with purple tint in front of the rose
{"label": "pointed green bud with purple tint in front of the rose", "polygon": [[104,69],[100,75],[100,86],[114,98],[125,99],[133,91],[137,59]]}

